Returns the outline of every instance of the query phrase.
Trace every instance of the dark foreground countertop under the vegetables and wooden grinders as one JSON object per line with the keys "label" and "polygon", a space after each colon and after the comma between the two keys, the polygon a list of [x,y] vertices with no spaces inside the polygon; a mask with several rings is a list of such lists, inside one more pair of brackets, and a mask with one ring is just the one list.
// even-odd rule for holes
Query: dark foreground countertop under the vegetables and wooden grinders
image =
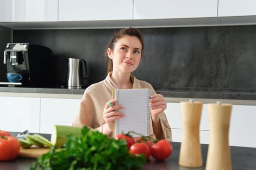
{"label": "dark foreground countertop under the vegetables and wooden grinders", "polygon": [[[18,133],[11,132],[12,136]],[[40,134],[50,139],[50,134]],[[165,161],[155,161],[152,157],[144,165],[142,170],[205,170],[208,145],[201,144],[203,167],[186,168],[178,165],[180,142],[171,142],[173,146],[172,155]],[[230,147],[233,170],[256,170],[256,148]],[[29,170],[36,159],[18,157],[12,161],[0,162],[0,170]]]}

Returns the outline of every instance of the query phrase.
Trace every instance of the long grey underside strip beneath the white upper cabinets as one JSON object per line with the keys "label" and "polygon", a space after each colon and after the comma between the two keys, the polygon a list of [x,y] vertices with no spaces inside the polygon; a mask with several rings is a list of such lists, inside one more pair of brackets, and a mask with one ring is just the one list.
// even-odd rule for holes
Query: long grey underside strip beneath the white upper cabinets
{"label": "long grey underside strip beneath the white upper cabinets", "polygon": [[0,22],[1,26],[13,30],[38,29],[101,29],[101,28],[161,28],[193,26],[255,25],[256,16],[202,17],[171,19],[89,20],[51,22]]}

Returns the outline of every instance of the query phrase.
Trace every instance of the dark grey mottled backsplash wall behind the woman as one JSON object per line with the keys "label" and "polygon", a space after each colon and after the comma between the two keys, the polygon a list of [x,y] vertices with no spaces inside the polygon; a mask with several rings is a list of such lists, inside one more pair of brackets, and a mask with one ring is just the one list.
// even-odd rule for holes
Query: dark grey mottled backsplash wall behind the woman
{"label": "dark grey mottled backsplash wall behind the woman", "polygon": [[[116,30],[14,30],[13,42],[52,49],[59,85],[66,85],[66,58],[84,59],[92,84],[105,78],[103,55]],[[256,90],[256,25],[139,30],[145,58],[134,74],[156,89]]]}

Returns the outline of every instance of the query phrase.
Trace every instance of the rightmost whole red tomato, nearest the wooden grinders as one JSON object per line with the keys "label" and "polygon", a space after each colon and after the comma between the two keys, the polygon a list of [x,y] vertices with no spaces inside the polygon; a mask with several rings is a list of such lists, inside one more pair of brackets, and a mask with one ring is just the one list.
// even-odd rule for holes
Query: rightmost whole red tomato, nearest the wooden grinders
{"label": "rightmost whole red tomato, nearest the wooden grinders", "polygon": [[151,147],[151,155],[157,160],[165,160],[173,152],[171,143],[165,139],[159,140]]}

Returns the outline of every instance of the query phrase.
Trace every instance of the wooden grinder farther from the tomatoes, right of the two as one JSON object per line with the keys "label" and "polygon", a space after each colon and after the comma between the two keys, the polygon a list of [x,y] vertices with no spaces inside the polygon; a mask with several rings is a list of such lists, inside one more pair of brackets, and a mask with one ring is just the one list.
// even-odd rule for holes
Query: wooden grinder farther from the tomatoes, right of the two
{"label": "wooden grinder farther from the tomatoes, right of the two", "polygon": [[229,124],[232,104],[207,104],[210,142],[206,170],[232,170],[229,147]]}

